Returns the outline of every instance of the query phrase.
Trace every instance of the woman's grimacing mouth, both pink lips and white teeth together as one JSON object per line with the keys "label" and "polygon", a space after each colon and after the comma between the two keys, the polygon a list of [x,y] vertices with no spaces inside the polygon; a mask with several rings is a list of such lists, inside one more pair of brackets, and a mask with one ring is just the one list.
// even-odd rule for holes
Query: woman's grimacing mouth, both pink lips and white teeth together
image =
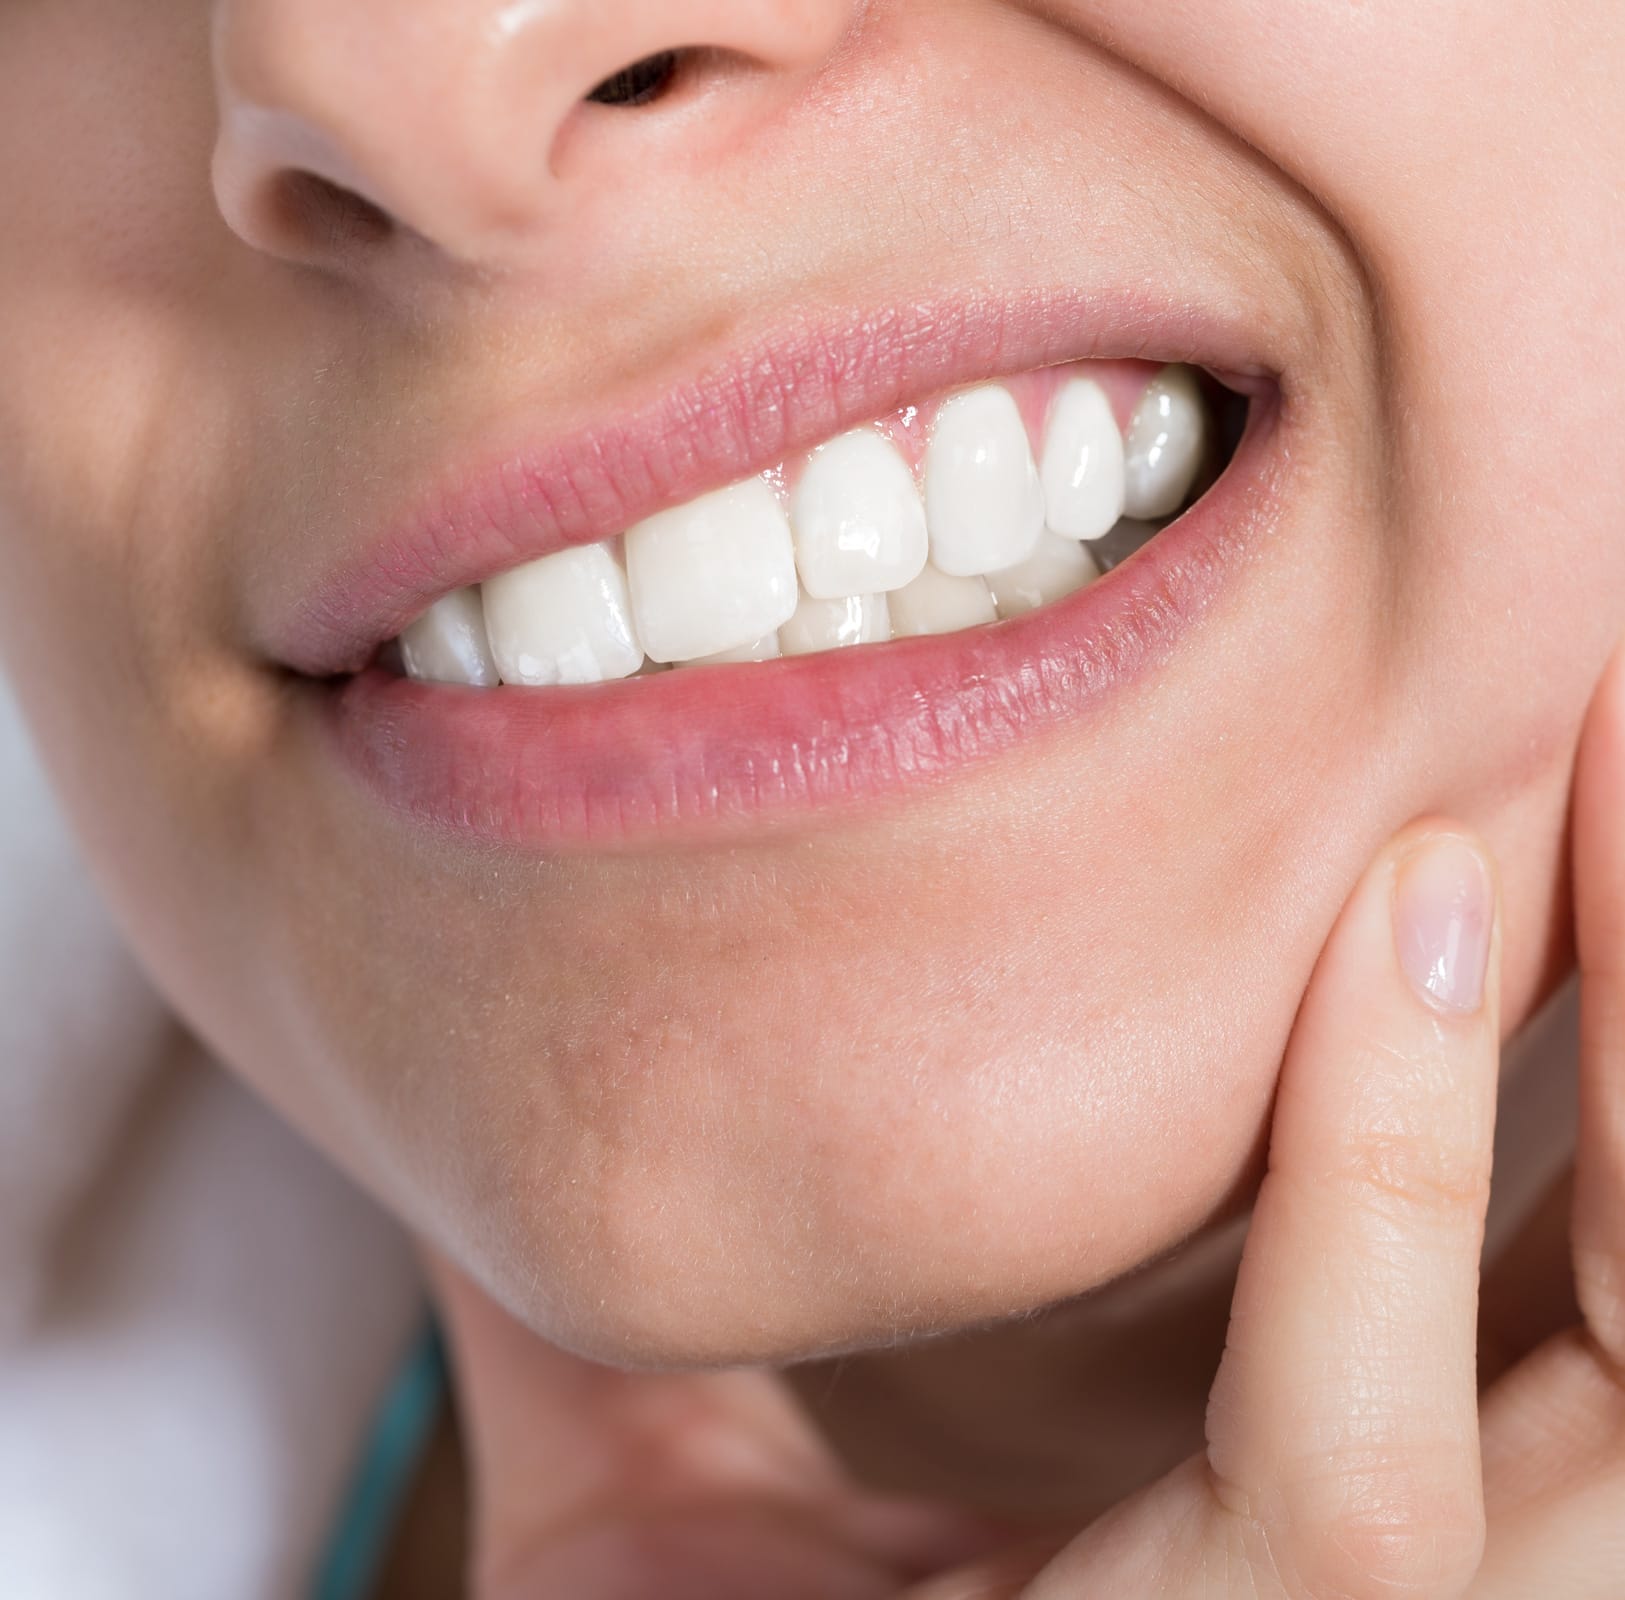
{"label": "woman's grimacing mouth, both pink lips and white teeth together", "polygon": [[973,339],[916,344],[949,382],[868,414],[905,370],[864,385],[842,356],[830,406],[782,357],[790,448],[731,382],[645,422],[644,482],[570,469],[626,445],[603,429],[499,460],[332,573],[281,658],[374,799],[502,845],[728,837],[939,785],[1165,659],[1272,515],[1280,391],[1212,333],[1020,367],[1004,339],[982,372]]}

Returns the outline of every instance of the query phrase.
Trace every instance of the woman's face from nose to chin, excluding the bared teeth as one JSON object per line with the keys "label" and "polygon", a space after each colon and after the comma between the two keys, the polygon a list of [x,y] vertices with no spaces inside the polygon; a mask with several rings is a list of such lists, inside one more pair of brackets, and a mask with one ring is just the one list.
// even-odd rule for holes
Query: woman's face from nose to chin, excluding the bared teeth
{"label": "woman's face from nose to chin, excluding the bared teeth", "polygon": [[[1562,960],[1622,93],[1614,0],[0,0],[6,668],[184,1015],[543,1334],[786,1360],[1074,1295],[1233,1204],[1407,819],[1498,848],[1513,1020]],[[354,674],[946,391],[1042,445],[1086,357],[1254,404],[1071,601]],[[1152,369],[1081,370],[1124,422]]]}

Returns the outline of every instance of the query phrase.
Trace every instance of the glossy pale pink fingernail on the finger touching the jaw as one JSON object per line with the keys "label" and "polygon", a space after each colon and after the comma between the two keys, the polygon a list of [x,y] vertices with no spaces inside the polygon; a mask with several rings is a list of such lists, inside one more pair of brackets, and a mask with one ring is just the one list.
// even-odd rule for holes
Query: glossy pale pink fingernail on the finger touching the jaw
{"label": "glossy pale pink fingernail on the finger touching the jaw", "polygon": [[1399,863],[1394,945],[1428,1005],[1469,1014],[1484,1004],[1493,923],[1490,869],[1464,838],[1441,833]]}

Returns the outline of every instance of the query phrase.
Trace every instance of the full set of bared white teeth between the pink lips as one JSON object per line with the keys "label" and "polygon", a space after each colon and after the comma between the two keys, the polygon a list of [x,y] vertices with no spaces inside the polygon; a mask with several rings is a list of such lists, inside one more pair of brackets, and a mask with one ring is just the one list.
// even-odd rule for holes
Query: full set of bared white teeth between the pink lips
{"label": "full set of bared white teeth between the pink lips", "polygon": [[470,687],[596,684],[1024,616],[1142,546],[1219,466],[1188,367],[1074,364],[848,430],[458,590],[387,651]]}

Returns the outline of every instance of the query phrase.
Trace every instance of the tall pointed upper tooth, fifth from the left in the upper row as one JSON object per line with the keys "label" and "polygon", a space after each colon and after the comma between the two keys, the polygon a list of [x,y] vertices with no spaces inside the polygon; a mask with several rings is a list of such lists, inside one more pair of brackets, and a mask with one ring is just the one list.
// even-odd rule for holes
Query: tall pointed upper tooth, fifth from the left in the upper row
{"label": "tall pointed upper tooth, fifth from the left in the upper row", "polygon": [[1008,388],[956,395],[925,456],[931,565],[956,578],[1025,560],[1043,531],[1043,484]]}

